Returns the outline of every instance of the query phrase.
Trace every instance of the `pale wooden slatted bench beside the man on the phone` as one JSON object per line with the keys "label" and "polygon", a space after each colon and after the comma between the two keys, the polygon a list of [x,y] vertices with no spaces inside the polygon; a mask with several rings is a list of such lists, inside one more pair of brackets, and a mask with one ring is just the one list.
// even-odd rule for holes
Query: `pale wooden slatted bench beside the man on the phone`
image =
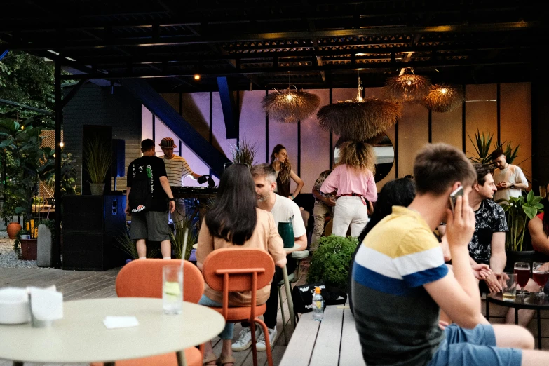
{"label": "pale wooden slatted bench beside the man on the phone", "polygon": [[313,320],[312,312],[301,315],[280,362],[296,365],[366,365],[348,305],[326,306],[321,322]]}

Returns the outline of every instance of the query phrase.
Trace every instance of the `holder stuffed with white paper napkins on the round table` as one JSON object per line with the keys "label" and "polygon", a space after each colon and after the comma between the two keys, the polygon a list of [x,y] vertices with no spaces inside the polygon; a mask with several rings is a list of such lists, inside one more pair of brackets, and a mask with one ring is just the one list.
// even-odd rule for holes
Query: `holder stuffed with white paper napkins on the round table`
{"label": "holder stuffed with white paper napkins on the round table", "polygon": [[27,287],[31,325],[35,328],[50,327],[53,320],[63,318],[63,294],[48,288]]}

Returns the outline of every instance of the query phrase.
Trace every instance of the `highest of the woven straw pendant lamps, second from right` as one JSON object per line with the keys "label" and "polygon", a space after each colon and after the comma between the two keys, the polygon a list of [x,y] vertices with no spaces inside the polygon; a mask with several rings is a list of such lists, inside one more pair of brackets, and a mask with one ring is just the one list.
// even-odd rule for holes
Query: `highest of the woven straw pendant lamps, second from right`
{"label": "highest of the woven straw pendant lamps, second from right", "polygon": [[384,95],[391,102],[421,102],[429,92],[431,81],[424,76],[414,74],[408,68],[400,76],[391,76],[384,86]]}

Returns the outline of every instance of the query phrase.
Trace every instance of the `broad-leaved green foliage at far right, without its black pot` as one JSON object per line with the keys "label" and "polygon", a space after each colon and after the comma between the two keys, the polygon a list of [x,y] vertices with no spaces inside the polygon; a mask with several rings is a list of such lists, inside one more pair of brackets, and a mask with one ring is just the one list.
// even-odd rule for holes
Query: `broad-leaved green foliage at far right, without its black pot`
{"label": "broad-leaved green foliage at far right, without its black pot", "polygon": [[524,232],[527,230],[529,220],[539,212],[543,212],[542,199],[542,197],[534,196],[533,191],[529,191],[526,199],[524,196],[519,196],[496,201],[501,203],[503,211],[506,212],[509,227],[509,232],[506,234],[506,250],[522,250]]}

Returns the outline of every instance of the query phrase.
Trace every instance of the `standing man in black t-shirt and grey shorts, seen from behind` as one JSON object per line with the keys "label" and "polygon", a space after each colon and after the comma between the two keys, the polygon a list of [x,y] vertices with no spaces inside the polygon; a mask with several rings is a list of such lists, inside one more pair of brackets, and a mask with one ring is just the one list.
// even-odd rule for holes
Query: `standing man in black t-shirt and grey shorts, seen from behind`
{"label": "standing man in black t-shirt and grey shorts, seen from behind", "polygon": [[[154,141],[143,140],[141,152],[143,156],[130,163],[126,175],[126,215],[132,215],[130,238],[137,240],[137,254],[140,259],[147,257],[147,239],[161,242],[162,257],[171,259],[168,207],[173,212],[175,202],[170,182],[166,177],[163,160],[154,156]],[[135,187],[133,193],[132,186]],[[136,207],[131,207],[132,205]]]}

